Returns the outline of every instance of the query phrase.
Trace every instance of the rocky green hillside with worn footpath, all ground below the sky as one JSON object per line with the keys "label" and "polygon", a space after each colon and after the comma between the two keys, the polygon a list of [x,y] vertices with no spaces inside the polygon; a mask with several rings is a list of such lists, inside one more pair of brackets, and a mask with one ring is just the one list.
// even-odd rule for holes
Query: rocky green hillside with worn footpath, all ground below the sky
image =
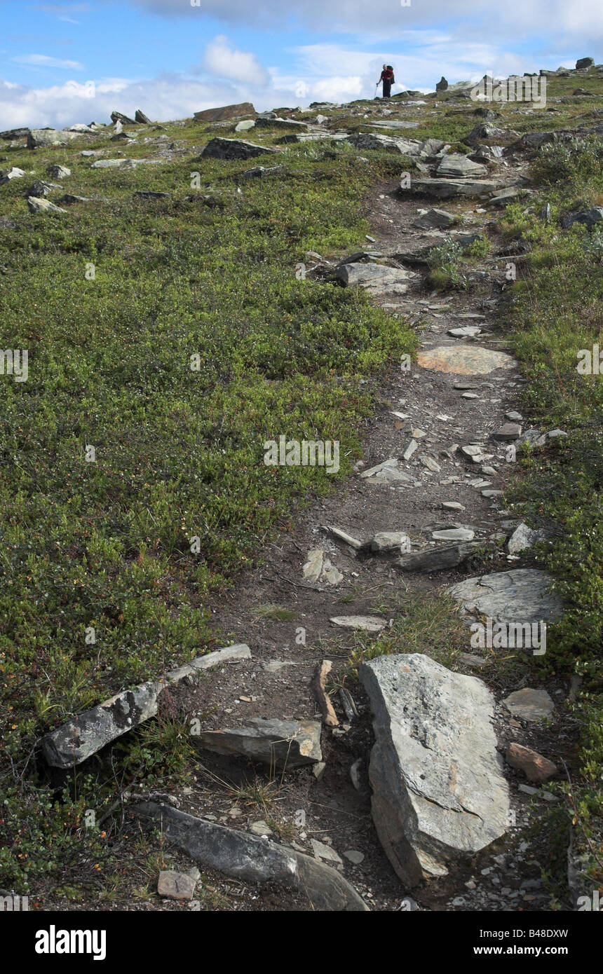
{"label": "rocky green hillside with worn footpath, all ground below the sky", "polygon": [[0,133],[3,895],[603,892],[603,66],[546,83]]}

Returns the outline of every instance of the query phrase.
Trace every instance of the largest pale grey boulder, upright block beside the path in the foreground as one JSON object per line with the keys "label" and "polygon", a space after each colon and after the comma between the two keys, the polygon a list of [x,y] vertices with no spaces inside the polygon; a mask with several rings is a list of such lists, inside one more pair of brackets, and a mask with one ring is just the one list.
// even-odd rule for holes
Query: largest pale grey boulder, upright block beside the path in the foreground
{"label": "largest pale grey boulder, upright block beside the path in the foreground", "polygon": [[403,882],[445,876],[507,831],[492,693],[420,654],[379,656],[358,675],[373,713],[379,839]]}

